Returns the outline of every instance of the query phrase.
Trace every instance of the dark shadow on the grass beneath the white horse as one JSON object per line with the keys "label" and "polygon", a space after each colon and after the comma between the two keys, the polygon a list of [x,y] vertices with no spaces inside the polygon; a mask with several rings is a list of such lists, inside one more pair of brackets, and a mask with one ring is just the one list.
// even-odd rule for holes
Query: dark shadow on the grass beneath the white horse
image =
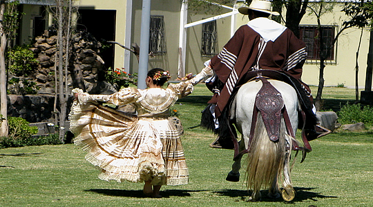
{"label": "dark shadow on the grass beneath the white horse", "polygon": [[[321,195],[321,193],[313,192],[316,188],[294,188],[296,190],[296,197],[291,202],[301,202],[306,201],[307,199],[311,199],[312,201],[317,201],[321,198],[337,198],[336,196],[327,196]],[[247,192],[247,190],[220,190],[214,191],[213,193],[217,193],[218,195],[228,196],[228,197],[238,197],[237,201],[247,201],[251,195],[251,192]],[[276,202],[276,201],[283,201],[283,198],[280,197],[278,199],[273,199],[267,196],[268,190],[260,190],[262,194],[262,201],[265,202]]]}

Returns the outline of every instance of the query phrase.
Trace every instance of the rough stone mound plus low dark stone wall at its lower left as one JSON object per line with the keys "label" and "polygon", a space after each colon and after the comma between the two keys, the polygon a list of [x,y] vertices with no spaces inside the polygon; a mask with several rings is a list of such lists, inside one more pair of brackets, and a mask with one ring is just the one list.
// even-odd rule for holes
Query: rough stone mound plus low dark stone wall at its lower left
{"label": "rough stone mound plus low dark stone wall at its lower left", "polygon": [[[22,117],[30,123],[52,122],[55,120],[55,75],[58,75],[58,62],[56,60],[57,35],[56,32],[46,30],[41,37],[35,39],[35,44],[30,50],[35,53],[39,61],[37,70],[27,77],[37,83],[37,95],[8,95],[8,116]],[[104,81],[104,61],[99,56],[101,43],[85,31],[73,35],[70,46],[70,61],[68,63],[68,94],[73,88],[86,89],[90,94],[111,94],[115,88]],[[14,76],[10,75],[9,78]],[[76,81],[81,77],[81,81]],[[81,85],[79,85],[81,84]],[[12,85],[9,84],[8,89]],[[72,103],[68,99],[68,109]],[[57,109],[59,102],[57,98]]]}

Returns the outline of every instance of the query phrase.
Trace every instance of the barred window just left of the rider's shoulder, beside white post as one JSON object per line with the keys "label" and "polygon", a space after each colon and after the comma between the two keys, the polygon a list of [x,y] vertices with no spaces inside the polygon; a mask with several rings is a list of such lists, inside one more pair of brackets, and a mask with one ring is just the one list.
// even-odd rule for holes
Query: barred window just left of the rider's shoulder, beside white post
{"label": "barred window just left of the rider's shoulder, beside white post", "polygon": [[202,57],[213,57],[217,54],[216,42],[216,20],[209,21],[202,24],[202,46],[201,55]]}

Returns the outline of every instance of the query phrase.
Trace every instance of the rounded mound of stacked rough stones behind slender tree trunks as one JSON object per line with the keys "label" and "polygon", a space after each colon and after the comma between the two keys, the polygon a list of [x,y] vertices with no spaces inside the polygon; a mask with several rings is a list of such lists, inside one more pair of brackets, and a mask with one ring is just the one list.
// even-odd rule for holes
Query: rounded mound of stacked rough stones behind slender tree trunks
{"label": "rounded mound of stacked rough stones behind slender tree trunks", "polygon": [[[115,92],[110,84],[104,82],[105,66],[99,56],[101,43],[91,34],[80,31],[73,34],[73,43],[70,46],[70,61],[68,63],[68,88],[84,87],[92,94]],[[54,94],[55,75],[58,75],[56,59],[57,35],[46,30],[41,37],[35,39],[36,43],[30,50],[35,53],[39,65],[32,75],[33,81],[39,87],[38,94]],[[104,89],[103,89],[104,88]]]}

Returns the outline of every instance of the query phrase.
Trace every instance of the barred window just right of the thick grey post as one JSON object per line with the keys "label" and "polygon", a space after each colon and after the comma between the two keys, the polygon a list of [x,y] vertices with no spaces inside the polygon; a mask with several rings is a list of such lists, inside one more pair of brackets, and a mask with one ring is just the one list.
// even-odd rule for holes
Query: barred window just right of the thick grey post
{"label": "barred window just right of the thick grey post", "polygon": [[151,55],[164,55],[166,53],[166,41],[163,16],[151,15],[150,24],[149,53]]}

